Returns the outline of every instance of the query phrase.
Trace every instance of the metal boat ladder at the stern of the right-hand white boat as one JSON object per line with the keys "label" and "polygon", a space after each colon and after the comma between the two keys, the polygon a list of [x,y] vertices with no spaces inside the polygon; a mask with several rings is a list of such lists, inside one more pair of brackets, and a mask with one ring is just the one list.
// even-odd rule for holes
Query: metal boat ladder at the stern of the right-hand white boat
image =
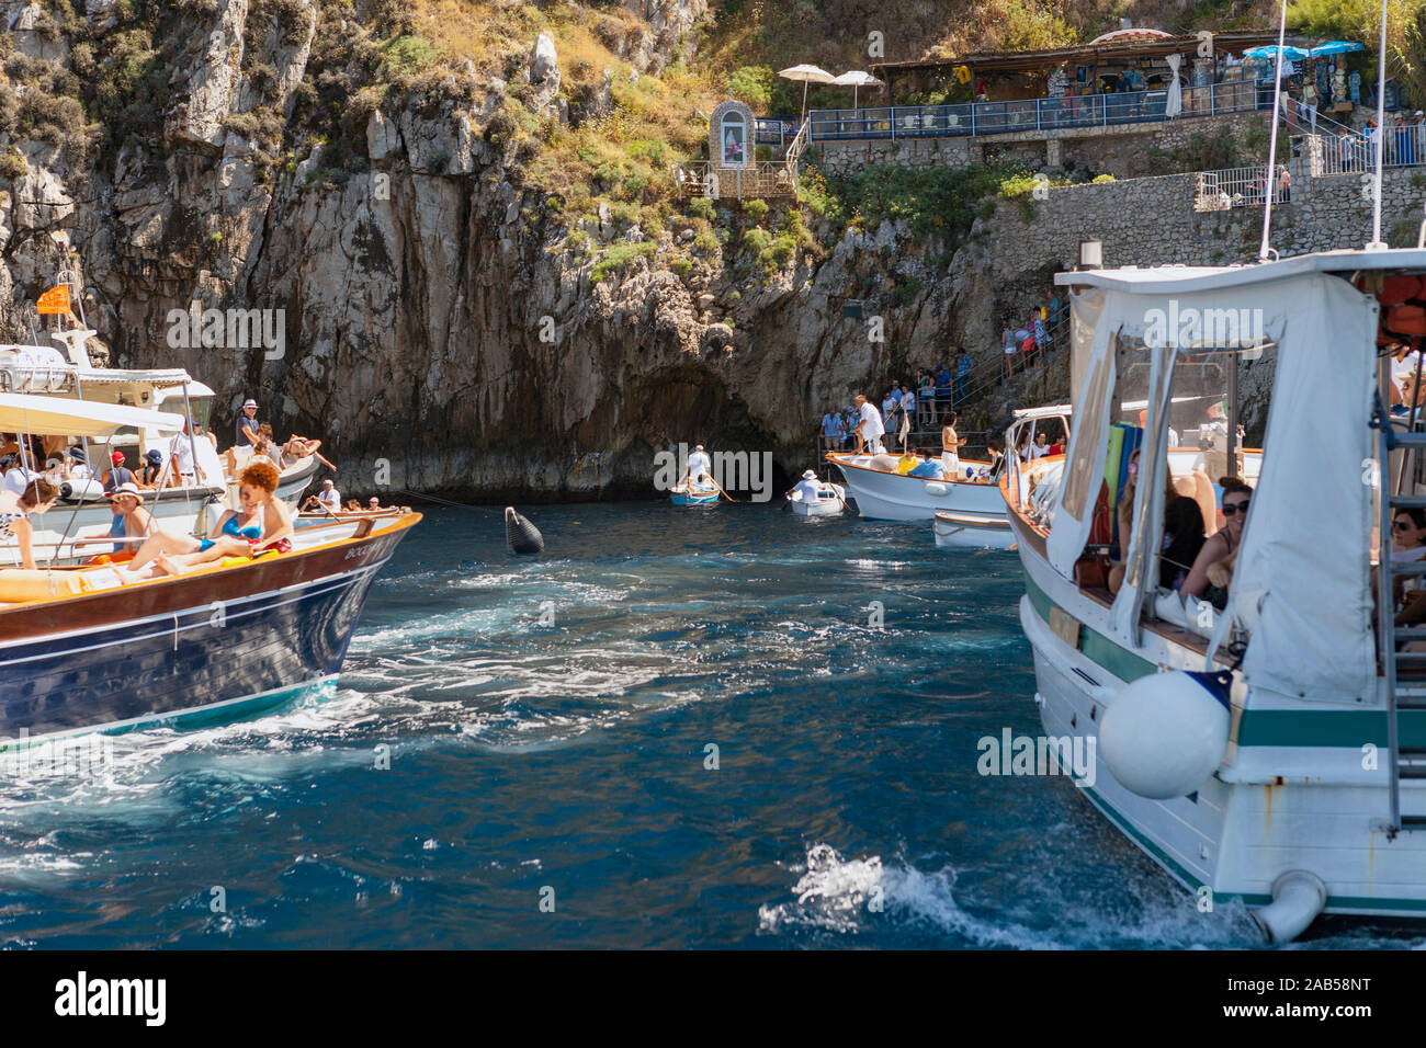
{"label": "metal boat ladder at the stern of the right-hand white boat", "polygon": [[[1410,710],[1426,710],[1426,646],[1423,650],[1397,650],[1397,644],[1407,644],[1413,640],[1426,640],[1426,625],[1397,626],[1395,582],[1397,579],[1426,577],[1426,560],[1392,560],[1389,550],[1392,542],[1392,519],[1400,509],[1426,509],[1426,495],[1393,493],[1393,488],[1403,486],[1392,482],[1387,476],[1390,452],[1426,449],[1426,432],[1395,432],[1390,419],[1378,405],[1378,418],[1373,425],[1380,431],[1380,482],[1382,482],[1382,518],[1380,518],[1380,549],[1383,555],[1379,563],[1385,570],[1378,572],[1378,625],[1380,633],[1382,672],[1386,676],[1387,716],[1386,716],[1386,744],[1387,744],[1387,776],[1390,786],[1390,820],[1386,826],[1387,838],[1395,838],[1402,830],[1426,830],[1426,813],[1402,814],[1402,783],[1406,780],[1426,780],[1426,746],[1402,746],[1400,714]],[[1406,471],[1400,471],[1402,476]],[[1415,473],[1415,471],[1412,471]],[[1415,485],[1412,485],[1415,486]],[[1422,583],[1426,589],[1426,583]],[[1415,739],[1412,740],[1416,741]],[[1415,793],[1415,791],[1413,791]]]}

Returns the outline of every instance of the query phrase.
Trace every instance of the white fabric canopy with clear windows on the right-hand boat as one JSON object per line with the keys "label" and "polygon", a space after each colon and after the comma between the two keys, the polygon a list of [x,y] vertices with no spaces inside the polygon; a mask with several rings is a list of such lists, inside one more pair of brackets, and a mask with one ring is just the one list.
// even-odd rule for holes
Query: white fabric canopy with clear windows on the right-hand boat
{"label": "white fabric canopy with clear windows on the right-hand boat", "polygon": [[[1145,278],[1104,281],[1075,297],[1077,312],[1081,299],[1088,299],[1078,317],[1081,329],[1074,332],[1082,337],[1085,354],[1078,368],[1077,426],[1047,552],[1054,569],[1074,579],[1104,478],[1119,349],[1144,345],[1151,374],[1135,526],[1125,585],[1111,615],[1115,633],[1137,643],[1142,605],[1158,579],[1159,550],[1148,540],[1158,529],[1145,525],[1164,510],[1174,365],[1181,355],[1212,351],[1204,339],[1178,345],[1176,334],[1165,338],[1164,317],[1253,311],[1258,338],[1276,344],[1276,372],[1266,453],[1214,647],[1236,623],[1251,636],[1242,664],[1251,684],[1296,699],[1340,702],[1343,694],[1363,700],[1376,694],[1369,577],[1375,489],[1368,465],[1375,461],[1369,423],[1378,302],[1335,274],[1396,268],[1407,258],[1426,271],[1426,251],[1332,254],[1397,261],[1395,267],[1329,267],[1309,257],[1218,269],[1201,284],[1164,279],[1164,269],[1156,269],[1161,278],[1149,279],[1145,271]],[[1276,278],[1262,279],[1273,271]],[[1239,279],[1221,279],[1231,274]],[[1081,282],[1094,274],[1070,277],[1067,282]],[[1219,346],[1242,348],[1231,339]],[[1147,536],[1142,548],[1141,536]],[[1211,647],[1209,666],[1212,654]]]}

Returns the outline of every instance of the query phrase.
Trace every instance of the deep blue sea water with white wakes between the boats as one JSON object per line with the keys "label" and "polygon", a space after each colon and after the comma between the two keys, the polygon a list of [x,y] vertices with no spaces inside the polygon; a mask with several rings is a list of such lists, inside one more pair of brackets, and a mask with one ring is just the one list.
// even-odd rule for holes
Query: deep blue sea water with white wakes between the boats
{"label": "deep blue sea water with white wakes between the boats", "polygon": [[977,773],[1040,730],[1012,553],[776,505],[525,512],[542,558],[499,509],[428,513],[325,693],[0,780],[0,944],[1258,944],[1068,780]]}

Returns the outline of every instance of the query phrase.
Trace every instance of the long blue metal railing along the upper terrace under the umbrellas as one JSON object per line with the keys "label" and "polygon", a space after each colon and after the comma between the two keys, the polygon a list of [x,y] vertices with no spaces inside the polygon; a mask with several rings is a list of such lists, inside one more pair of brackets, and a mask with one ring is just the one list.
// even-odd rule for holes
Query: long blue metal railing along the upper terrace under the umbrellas
{"label": "long blue metal railing along the upper terrace under the umbrellas", "polygon": [[813,143],[948,138],[1144,124],[1175,117],[1216,117],[1272,108],[1272,81],[1238,80],[1182,88],[1182,107],[1168,114],[1168,90],[1068,94],[1058,98],[975,101],[955,106],[884,106],[813,110]]}

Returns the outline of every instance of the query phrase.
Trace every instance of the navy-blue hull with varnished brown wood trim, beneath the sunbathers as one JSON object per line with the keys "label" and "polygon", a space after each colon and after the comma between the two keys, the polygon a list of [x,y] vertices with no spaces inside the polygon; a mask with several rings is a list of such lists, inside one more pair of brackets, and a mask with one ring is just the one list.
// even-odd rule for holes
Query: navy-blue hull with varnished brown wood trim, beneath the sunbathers
{"label": "navy-blue hull with varnished brown wood trim, beneath the sunbathers", "polygon": [[0,746],[235,714],[321,684],[419,520],[130,585],[107,567],[0,569],[0,600],[56,592],[0,603]]}

